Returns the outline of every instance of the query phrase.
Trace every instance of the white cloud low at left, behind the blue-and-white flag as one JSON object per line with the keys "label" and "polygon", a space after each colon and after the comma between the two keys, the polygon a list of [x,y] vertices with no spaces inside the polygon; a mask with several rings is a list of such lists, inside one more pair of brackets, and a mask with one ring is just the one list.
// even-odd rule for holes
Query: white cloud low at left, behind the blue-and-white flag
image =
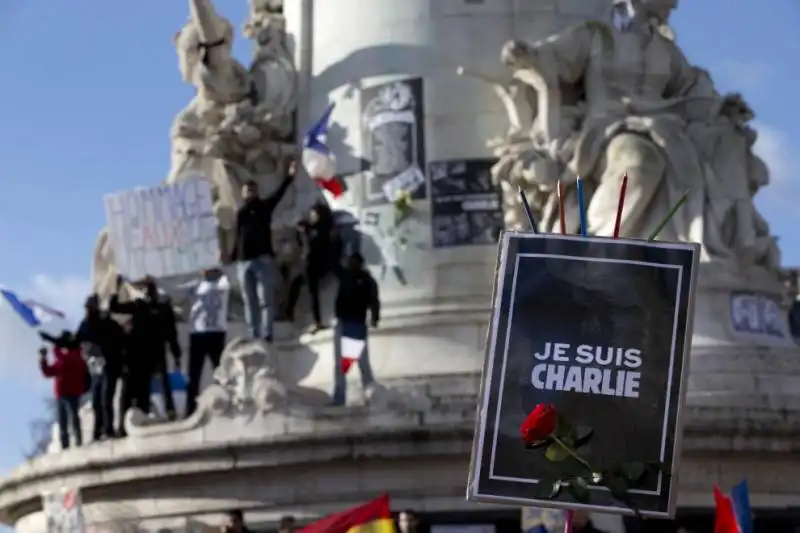
{"label": "white cloud low at left, behind the blue-and-white flag", "polygon": [[[53,320],[44,326],[49,332],[58,332],[73,328],[80,320],[91,283],[88,279],[72,276],[54,278],[37,274],[28,287],[11,288],[22,297],[64,312],[66,320]],[[4,300],[0,300],[0,377],[39,381],[36,352],[41,345],[37,332],[29,328]]]}

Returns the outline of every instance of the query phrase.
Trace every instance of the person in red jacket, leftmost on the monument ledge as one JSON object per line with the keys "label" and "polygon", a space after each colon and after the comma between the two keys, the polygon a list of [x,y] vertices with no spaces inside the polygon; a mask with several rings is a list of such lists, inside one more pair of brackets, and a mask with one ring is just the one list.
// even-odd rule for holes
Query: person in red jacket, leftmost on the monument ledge
{"label": "person in red jacket, leftmost on the monument ledge", "polygon": [[58,430],[61,437],[61,449],[69,448],[69,427],[75,434],[75,445],[83,444],[81,421],[78,416],[81,396],[89,388],[87,379],[89,372],[81,355],[80,345],[72,334],[65,331],[53,345],[55,361],[47,360],[47,348],[39,349],[39,367],[47,378],[53,378],[58,412]]}

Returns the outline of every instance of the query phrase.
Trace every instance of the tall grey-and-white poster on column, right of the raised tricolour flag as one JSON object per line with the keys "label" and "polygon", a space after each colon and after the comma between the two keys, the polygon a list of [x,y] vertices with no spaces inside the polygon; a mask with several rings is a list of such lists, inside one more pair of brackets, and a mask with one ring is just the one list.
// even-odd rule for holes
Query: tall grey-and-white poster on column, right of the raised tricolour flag
{"label": "tall grey-and-white poster on column, right of the raised tricolour flag", "polygon": [[392,203],[398,191],[425,198],[422,78],[361,91],[362,171],[366,205]]}

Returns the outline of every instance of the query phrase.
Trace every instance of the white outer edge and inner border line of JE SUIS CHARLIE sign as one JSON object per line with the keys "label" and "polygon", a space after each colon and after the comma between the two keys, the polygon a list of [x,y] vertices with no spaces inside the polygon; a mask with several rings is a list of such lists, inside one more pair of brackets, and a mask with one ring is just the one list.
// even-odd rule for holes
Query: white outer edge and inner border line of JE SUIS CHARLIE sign
{"label": "white outer edge and inner border line of JE SUIS CHARLIE sign", "polygon": [[[668,508],[666,512],[656,512],[656,511],[649,511],[644,510],[641,511],[643,516],[649,516],[654,518],[671,518],[675,515],[675,510],[677,507],[677,486],[678,486],[678,467],[680,464],[680,455],[682,449],[682,441],[683,441],[683,405],[686,400],[686,386],[687,380],[689,377],[689,359],[690,359],[690,351],[691,351],[691,343],[692,343],[692,333],[693,333],[693,326],[694,326],[694,294],[697,285],[697,272],[699,269],[700,263],[700,245],[697,243],[666,243],[666,242],[647,242],[642,240],[635,240],[635,239],[610,239],[606,237],[579,237],[579,236],[570,236],[570,235],[561,235],[561,234],[553,234],[553,235],[542,235],[536,233],[526,233],[526,232],[517,232],[517,231],[505,231],[500,237],[500,250],[501,253],[498,257],[497,268],[496,271],[498,273],[498,279],[495,283],[494,294],[492,296],[492,320],[489,327],[489,331],[487,332],[487,343],[489,344],[489,349],[487,350],[487,355],[484,360],[484,368],[483,368],[483,375],[484,379],[481,380],[481,391],[480,391],[480,398],[481,403],[479,404],[479,411],[476,420],[476,428],[475,428],[475,436],[473,438],[473,448],[472,448],[472,456],[474,458],[470,464],[470,472],[469,472],[469,482],[467,485],[467,500],[470,501],[481,501],[481,502],[488,502],[488,503],[499,503],[499,504],[507,504],[507,505],[535,505],[538,507],[553,507],[557,509],[586,509],[589,511],[598,511],[598,512],[613,512],[617,514],[635,514],[632,510],[627,509],[625,507],[609,507],[609,506],[601,506],[601,505],[591,505],[591,504],[580,504],[580,503],[572,503],[572,502],[559,502],[559,501],[551,501],[551,500],[539,500],[539,499],[527,499],[527,498],[517,498],[513,496],[494,496],[490,494],[482,494],[480,493],[480,474],[482,468],[484,468],[483,464],[483,448],[485,445],[485,431],[486,428],[486,415],[488,412],[489,401],[491,397],[491,380],[494,370],[494,357],[497,351],[497,335],[498,335],[498,325],[500,319],[500,303],[503,297],[503,288],[505,284],[505,276],[503,273],[506,270],[508,264],[508,245],[512,238],[528,238],[528,239],[548,239],[548,238],[558,238],[563,240],[575,240],[575,241],[589,241],[589,242],[602,242],[604,244],[638,244],[643,245],[646,244],[648,246],[652,246],[655,248],[663,248],[663,249],[671,249],[671,250],[690,250],[692,251],[692,272],[690,276],[689,282],[689,305],[687,306],[687,313],[686,313],[686,335],[684,339],[683,345],[683,362],[682,362],[682,375],[680,386],[678,389],[678,406],[675,416],[675,444],[673,446],[672,458],[670,461],[670,473],[672,475],[672,482],[670,483],[670,490],[667,497],[668,500]],[[520,257],[559,257],[562,259],[576,259],[572,256],[563,256],[558,254],[518,254],[515,266],[514,266],[514,274],[512,277],[512,294],[516,289],[516,277],[517,277],[517,268],[519,265],[519,258]],[[673,333],[672,333],[672,346],[671,346],[671,354],[670,354],[670,376],[668,378],[668,391],[667,391],[667,402],[665,407],[665,416],[664,416],[664,425],[662,426],[662,448],[661,448],[661,460],[663,461],[663,456],[666,452],[666,426],[669,424],[669,402],[670,402],[670,394],[674,376],[672,376],[672,369],[674,366],[674,357],[675,357],[675,347],[677,343],[677,339],[675,335],[677,333],[677,315],[680,309],[680,288],[683,282],[683,267],[679,265],[663,265],[659,263],[646,263],[641,261],[627,261],[627,260],[617,260],[617,259],[595,259],[595,261],[603,261],[603,262],[615,262],[615,263],[633,263],[633,264],[642,264],[645,266],[656,267],[656,268],[676,268],[679,269],[679,277],[678,277],[678,297],[676,298],[676,307],[675,307],[675,320],[673,322]],[[513,309],[510,310],[509,313],[509,330],[510,330],[510,318],[513,314]],[[506,331],[506,337],[508,337],[509,332]],[[507,350],[508,350],[508,343],[506,342],[506,353],[503,354],[503,367],[505,367],[505,362],[507,358]],[[503,370],[501,370],[503,372]],[[501,374],[501,382],[500,386],[502,388],[503,385],[503,375]],[[499,417],[500,408],[502,404],[502,399],[498,398],[497,404],[497,413],[496,416]],[[489,465],[489,479],[495,479],[499,481],[510,481],[510,482],[522,482],[522,483],[531,483],[535,484],[538,483],[538,480],[530,479],[530,478],[509,478],[504,476],[495,476],[493,475],[494,471],[494,457],[495,457],[495,448],[497,442],[497,423],[495,422],[495,432],[493,435],[493,445],[491,451],[491,459]],[[632,490],[631,492],[635,492],[638,494],[646,494],[646,495],[653,495],[653,496],[660,496],[661,495],[661,483],[662,483],[662,475],[659,475],[658,480],[658,490],[656,491],[644,491],[644,490]]]}

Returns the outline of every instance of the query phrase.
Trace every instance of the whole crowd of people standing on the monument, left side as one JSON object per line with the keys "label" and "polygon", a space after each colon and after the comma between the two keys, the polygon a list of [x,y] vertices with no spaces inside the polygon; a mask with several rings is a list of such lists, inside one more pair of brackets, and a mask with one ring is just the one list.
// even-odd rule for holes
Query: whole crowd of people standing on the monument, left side
{"label": "whole crowd of people standing on the monument, left side", "polygon": [[[314,320],[311,333],[326,329],[328,326],[320,310],[320,284],[327,276],[335,276],[339,288],[334,305],[336,360],[332,404],[345,403],[341,365],[345,332],[358,335],[364,341],[358,366],[362,383],[366,386],[372,381],[366,341],[368,326],[377,327],[380,319],[378,284],[365,268],[364,258],[358,251],[343,253],[333,214],[322,201],[297,225],[296,239],[303,250],[304,267],[291,280],[286,308],[276,309],[275,279],[279,272],[271,240],[272,214],[295,170],[295,163],[291,161],[278,190],[266,198],[259,195],[256,182],[244,184],[233,253],[222,252],[218,268],[205,270],[179,287],[189,294],[190,301],[186,313],[189,330],[186,416],[191,416],[197,408],[206,360],[216,368],[227,341],[231,292],[231,282],[225,274],[227,265],[233,266],[236,272],[249,334],[267,343],[273,342],[278,312],[282,311],[286,317],[294,316],[304,285],[308,289]],[[124,283],[139,289],[140,296],[122,301],[119,293]],[[119,276],[115,294],[107,306],[102,303],[96,294],[87,298],[85,315],[74,332],[64,331],[58,336],[40,333],[43,340],[53,346],[53,360],[48,358],[46,348],[40,349],[40,367],[44,376],[54,381],[62,449],[71,443],[80,446],[83,442],[78,412],[81,399],[87,393],[91,394],[94,412],[93,441],[124,437],[124,413],[131,407],[150,413],[154,381],[163,394],[167,417],[176,418],[168,355],[174,359],[175,368],[181,369],[182,350],[178,315],[172,299],[159,290],[151,277],[133,283]],[[116,417],[114,398],[119,383],[122,384],[122,400],[120,416]]]}

